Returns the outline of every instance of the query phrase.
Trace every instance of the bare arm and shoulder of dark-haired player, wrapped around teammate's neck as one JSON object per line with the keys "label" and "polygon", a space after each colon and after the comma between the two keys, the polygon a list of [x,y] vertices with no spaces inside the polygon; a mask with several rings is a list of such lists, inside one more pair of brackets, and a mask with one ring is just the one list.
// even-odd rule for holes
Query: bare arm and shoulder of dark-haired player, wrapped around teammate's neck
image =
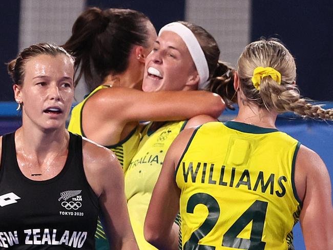
{"label": "bare arm and shoulder of dark-haired player, wrapped around teammate's neck", "polygon": [[220,96],[206,91],[143,92],[112,87],[86,102],[82,128],[88,138],[110,145],[126,137],[138,121],[183,120],[200,114],[218,117],[224,108]]}

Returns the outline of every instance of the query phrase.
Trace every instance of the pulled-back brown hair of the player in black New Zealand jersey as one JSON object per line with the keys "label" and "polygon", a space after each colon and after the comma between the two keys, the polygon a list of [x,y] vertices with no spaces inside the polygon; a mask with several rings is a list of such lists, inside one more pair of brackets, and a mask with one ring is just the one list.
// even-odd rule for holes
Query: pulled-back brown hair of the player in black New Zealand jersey
{"label": "pulled-back brown hair of the player in black New Zealand jersey", "polygon": [[58,54],[67,55],[74,63],[74,58],[65,49],[57,45],[40,43],[25,48],[22,52],[20,52],[17,55],[15,59],[11,60],[8,63],[8,74],[11,76],[13,84],[17,84],[19,86],[23,85],[23,80],[25,75],[25,64],[27,60],[36,57],[38,55],[56,56]]}

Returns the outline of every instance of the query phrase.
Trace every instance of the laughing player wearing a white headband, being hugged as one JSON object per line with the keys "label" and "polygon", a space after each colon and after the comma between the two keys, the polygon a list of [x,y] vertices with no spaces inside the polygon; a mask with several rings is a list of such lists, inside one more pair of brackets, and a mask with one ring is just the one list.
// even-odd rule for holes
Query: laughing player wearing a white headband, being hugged
{"label": "laughing player wearing a white headband, being hugged", "polygon": [[[185,22],[166,25],[147,57],[142,89],[151,93],[218,89],[227,100],[227,82],[233,87],[233,73],[218,62],[219,53],[215,39],[202,27]],[[193,108],[200,105],[198,102]],[[166,151],[183,128],[205,121],[206,117],[201,116],[187,123],[184,120],[153,122],[143,130],[138,151],[125,175],[131,224],[140,249],[156,249],[145,241],[143,223]]]}

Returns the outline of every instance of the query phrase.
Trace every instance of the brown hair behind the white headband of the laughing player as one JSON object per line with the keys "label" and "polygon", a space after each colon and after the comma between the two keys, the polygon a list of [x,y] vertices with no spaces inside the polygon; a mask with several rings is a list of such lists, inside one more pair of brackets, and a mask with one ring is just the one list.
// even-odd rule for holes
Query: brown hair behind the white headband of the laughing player
{"label": "brown hair behind the white headband of the laughing player", "polygon": [[198,25],[188,22],[179,23],[188,27],[192,31],[206,58],[209,68],[209,83],[206,86],[206,90],[220,95],[226,106],[230,109],[234,109],[232,103],[235,102],[235,70],[227,66],[227,64],[222,63],[222,61],[219,61],[220,49],[216,40],[209,32]]}

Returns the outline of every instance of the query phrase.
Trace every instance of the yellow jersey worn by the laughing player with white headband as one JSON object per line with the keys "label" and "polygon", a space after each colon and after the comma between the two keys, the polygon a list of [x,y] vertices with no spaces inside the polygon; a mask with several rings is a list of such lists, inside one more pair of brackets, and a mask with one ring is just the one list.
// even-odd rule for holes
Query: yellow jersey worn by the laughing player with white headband
{"label": "yellow jersey worn by the laughing player with white headband", "polygon": [[156,131],[149,124],[125,175],[125,194],[132,228],[139,249],[156,249],[145,241],[143,224],[166,151],[185,126],[185,121],[166,122]]}

